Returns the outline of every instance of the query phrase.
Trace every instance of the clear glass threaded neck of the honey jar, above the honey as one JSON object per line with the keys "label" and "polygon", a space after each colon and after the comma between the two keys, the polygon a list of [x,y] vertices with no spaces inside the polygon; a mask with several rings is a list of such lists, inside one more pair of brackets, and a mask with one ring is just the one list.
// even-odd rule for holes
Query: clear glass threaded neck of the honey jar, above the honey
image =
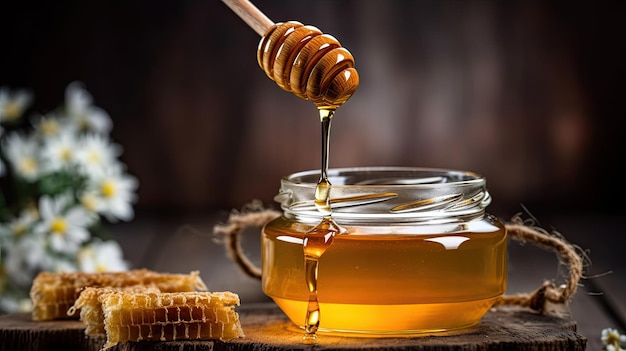
{"label": "clear glass threaded neck of the honey jar, above the honey", "polygon": [[[275,200],[285,217],[317,222],[313,171],[281,181]],[[345,224],[463,222],[485,216],[491,203],[483,177],[470,172],[425,168],[329,170],[332,217]]]}

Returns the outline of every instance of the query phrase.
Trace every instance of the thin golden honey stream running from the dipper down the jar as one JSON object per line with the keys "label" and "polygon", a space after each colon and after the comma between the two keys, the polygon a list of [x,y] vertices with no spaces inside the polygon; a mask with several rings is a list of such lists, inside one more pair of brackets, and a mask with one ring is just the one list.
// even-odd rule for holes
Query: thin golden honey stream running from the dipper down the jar
{"label": "thin golden honey stream running from the dipper down the jar", "polygon": [[322,221],[304,238],[304,264],[306,284],[309,289],[309,303],[304,321],[306,334],[302,337],[305,344],[317,343],[317,329],[320,325],[320,308],[317,299],[317,275],[319,259],[331,245],[336,234],[341,233],[339,227],[332,219],[330,207],[330,181],[328,180],[328,154],[330,148],[330,125],[335,110],[320,109],[320,121],[322,123],[322,168],[320,179],[315,188],[315,206],[322,213]]}

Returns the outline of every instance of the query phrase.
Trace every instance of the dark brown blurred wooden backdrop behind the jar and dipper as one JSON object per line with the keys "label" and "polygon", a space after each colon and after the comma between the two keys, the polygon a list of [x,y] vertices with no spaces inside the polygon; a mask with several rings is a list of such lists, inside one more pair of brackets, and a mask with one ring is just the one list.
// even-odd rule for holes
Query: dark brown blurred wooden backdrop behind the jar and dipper
{"label": "dark brown blurred wooden backdrop behind the jar and dipper", "polygon": [[[510,217],[623,213],[619,2],[287,1],[255,4],[337,37],[357,93],[333,122],[331,167],[484,174]],[[320,166],[313,104],[256,63],[259,36],[217,0],[21,1],[0,7],[0,85],[54,109],[74,80],[113,118],[138,213],[272,204]]]}

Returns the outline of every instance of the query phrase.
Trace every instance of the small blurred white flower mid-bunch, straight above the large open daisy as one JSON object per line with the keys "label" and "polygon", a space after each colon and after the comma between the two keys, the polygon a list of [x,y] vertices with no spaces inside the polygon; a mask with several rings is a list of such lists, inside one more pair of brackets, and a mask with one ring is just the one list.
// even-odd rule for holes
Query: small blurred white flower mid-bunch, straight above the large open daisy
{"label": "small blurred white flower mid-bunch, straight above the large open daisy", "polygon": [[77,158],[78,144],[73,131],[62,129],[57,135],[44,140],[41,149],[42,169],[55,172],[69,169]]}

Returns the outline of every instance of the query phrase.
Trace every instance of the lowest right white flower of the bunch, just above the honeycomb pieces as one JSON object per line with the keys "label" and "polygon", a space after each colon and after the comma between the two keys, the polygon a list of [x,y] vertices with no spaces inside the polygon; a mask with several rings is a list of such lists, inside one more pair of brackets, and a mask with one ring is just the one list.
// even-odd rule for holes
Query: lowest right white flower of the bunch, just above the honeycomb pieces
{"label": "lowest right white flower of the bunch, just above the honeycomb pieces", "polygon": [[78,266],[83,272],[120,272],[128,270],[122,248],[116,241],[94,239],[78,253]]}

